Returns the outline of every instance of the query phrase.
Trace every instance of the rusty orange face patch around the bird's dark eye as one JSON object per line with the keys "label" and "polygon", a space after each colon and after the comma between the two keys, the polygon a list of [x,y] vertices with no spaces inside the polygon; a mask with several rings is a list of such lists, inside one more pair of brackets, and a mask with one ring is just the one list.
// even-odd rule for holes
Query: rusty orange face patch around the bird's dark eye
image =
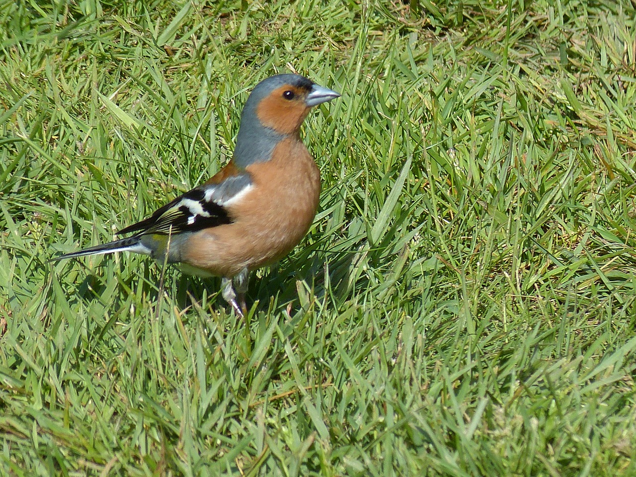
{"label": "rusty orange face patch around the bird's dark eye", "polygon": [[[286,92],[293,93],[293,99],[287,99]],[[256,107],[256,115],[263,126],[280,134],[293,134],[298,132],[309,112],[310,108],[305,104],[306,96],[307,90],[304,88],[280,86],[261,100]]]}

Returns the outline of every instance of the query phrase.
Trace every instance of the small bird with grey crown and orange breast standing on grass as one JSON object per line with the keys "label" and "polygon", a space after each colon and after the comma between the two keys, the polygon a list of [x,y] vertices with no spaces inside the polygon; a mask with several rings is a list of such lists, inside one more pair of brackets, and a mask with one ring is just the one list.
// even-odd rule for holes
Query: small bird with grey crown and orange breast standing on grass
{"label": "small bird with grey crown and orange breast standing on grass", "polygon": [[320,172],[300,139],[309,110],[340,94],[298,74],[254,87],[241,113],[232,160],[209,181],[130,225],[114,240],[54,258],[127,251],[221,277],[221,294],[241,317],[249,272],[298,245],[314,221]]}

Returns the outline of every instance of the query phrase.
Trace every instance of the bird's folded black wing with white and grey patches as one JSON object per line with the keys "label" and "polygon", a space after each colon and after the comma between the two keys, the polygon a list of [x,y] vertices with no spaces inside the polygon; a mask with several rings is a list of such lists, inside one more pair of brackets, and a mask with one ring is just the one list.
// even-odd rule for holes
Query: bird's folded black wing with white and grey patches
{"label": "bird's folded black wing with white and grey patches", "polygon": [[232,223],[227,206],[239,200],[251,188],[252,178],[249,172],[243,170],[232,175],[224,174],[222,181],[208,181],[164,205],[149,218],[117,233],[174,235]]}

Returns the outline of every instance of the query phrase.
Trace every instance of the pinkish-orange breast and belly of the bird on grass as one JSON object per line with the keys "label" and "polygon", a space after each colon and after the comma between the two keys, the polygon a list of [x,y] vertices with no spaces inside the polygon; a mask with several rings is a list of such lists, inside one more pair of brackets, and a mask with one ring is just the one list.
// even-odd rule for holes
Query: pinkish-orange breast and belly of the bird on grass
{"label": "pinkish-orange breast and belly of the bird on grass", "polygon": [[246,168],[254,188],[228,206],[234,222],[191,237],[182,259],[214,275],[232,277],[284,257],[314,221],[320,173],[300,139],[285,139],[272,160]]}

